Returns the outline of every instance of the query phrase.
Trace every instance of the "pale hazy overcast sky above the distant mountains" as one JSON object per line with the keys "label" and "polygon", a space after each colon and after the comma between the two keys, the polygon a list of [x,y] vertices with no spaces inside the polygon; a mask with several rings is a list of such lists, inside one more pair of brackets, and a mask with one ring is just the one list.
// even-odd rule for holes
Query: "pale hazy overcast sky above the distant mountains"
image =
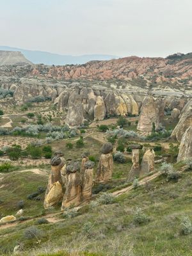
{"label": "pale hazy overcast sky above the distant mountains", "polygon": [[192,52],[192,0],[0,0],[0,45],[60,54]]}

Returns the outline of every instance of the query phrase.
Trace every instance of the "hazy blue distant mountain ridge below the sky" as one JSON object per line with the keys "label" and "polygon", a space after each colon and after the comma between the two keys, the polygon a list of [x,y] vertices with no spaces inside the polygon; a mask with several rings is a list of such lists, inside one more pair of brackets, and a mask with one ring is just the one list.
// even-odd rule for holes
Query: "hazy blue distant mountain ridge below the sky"
{"label": "hazy blue distant mountain ridge below the sky", "polygon": [[44,51],[29,51],[8,46],[0,46],[0,51],[20,51],[32,63],[44,63],[45,65],[76,65],[84,64],[92,60],[112,60],[118,58],[117,56],[102,54],[87,54],[81,56],[61,55]]}

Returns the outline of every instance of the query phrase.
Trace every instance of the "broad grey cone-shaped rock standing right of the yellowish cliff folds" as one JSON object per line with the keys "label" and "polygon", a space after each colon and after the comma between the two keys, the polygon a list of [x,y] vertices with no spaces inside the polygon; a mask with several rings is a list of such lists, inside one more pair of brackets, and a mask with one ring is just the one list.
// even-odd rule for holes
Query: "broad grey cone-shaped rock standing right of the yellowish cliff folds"
{"label": "broad grey cone-shaped rock standing right of the yellowish cliff folds", "polygon": [[164,115],[163,106],[162,99],[156,100],[152,96],[145,97],[138,122],[138,131],[151,132],[153,123],[158,131]]}

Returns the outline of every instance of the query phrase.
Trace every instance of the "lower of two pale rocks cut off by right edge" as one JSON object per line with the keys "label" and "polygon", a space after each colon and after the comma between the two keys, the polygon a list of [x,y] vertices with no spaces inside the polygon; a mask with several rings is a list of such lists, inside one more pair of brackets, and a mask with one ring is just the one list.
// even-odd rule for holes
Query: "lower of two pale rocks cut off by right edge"
{"label": "lower of two pale rocks cut off by right edge", "polygon": [[183,134],[179,146],[179,154],[177,162],[184,161],[192,157],[192,126],[190,126]]}

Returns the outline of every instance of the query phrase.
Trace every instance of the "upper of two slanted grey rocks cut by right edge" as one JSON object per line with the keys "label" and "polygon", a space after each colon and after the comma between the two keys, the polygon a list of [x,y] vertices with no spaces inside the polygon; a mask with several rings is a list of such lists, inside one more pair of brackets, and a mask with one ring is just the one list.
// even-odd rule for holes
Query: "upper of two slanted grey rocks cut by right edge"
{"label": "upper of two slanted grey rocks cut by right edge", "polygon": [[192,100],[184,106],[179,118],[179,123],[176,125],[171,135],[171,137],[176,138],[177,141],[181,141],[184,132],[192,126]]}

